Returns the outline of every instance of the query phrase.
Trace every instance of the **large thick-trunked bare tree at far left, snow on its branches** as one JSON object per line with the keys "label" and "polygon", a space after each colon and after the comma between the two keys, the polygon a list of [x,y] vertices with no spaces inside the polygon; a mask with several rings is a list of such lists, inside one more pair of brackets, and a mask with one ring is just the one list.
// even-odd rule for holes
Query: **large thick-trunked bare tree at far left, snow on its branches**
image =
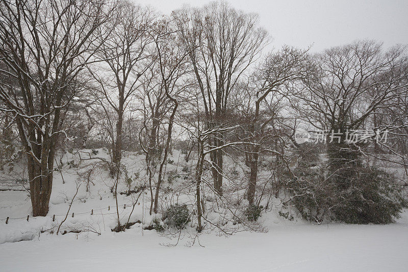
{"label": "large thick-trunked bare tree at far left, snow on its branches", "polygon": [[48,212],[55,142],[64,133],[61,113],[100,48],[93,42],[96,30],[109,20],[114,5],[103,0],[0,3],[0,58],[19,83],[12,90],[0,86],[1,109],[13,114],[27,152],[33,216]]}

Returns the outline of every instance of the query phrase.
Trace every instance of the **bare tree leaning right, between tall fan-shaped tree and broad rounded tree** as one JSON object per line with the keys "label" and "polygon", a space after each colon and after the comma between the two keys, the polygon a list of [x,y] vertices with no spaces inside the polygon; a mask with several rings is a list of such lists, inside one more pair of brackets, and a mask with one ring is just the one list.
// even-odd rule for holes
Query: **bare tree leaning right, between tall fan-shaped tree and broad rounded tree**
{"label": "bare tree leaning right, between tall fan-shaped tree and broad rounded tree", "polygon": [[307,51],[284,46],[281,51],[270,53],[265,61],[254,71],[246,86],[244,103],[241,102],[240,114],[248,120],[246,126],[247,141],[256,143],[248,145],[247,160],[250,168],[247,199],[253,204],[257,185],[259,156],[261,153],[272,153],[282,156],[282,152],[271,146],[272,138],[281,135],[278,123],[282,121],[283,104],[290,90],[298,88],[299,82],[307,73]]}

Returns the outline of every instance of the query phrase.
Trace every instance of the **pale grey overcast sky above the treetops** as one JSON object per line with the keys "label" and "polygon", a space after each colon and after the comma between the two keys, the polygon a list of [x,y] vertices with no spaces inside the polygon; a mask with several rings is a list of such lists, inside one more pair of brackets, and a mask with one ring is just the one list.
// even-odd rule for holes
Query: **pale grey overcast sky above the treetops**
{"label": "pale grey overcast sky above the treetops", "polygon": [[[210,1],[135,0],[170,14],[184,4],[193,7]],[[355,39],[375,39],[385,46],[408,44],[408,0],[230,0],[233,7],[260,15],[260,23],[283,44],[317,52]]]}

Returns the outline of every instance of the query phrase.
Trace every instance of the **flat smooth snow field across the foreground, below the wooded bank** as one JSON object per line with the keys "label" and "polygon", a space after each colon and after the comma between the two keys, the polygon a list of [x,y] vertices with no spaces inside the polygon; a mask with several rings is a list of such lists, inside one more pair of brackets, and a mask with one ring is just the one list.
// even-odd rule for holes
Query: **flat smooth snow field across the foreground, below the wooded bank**
{"label": "flat smooth snow field across the foreground, below the wooded bank", "polygon": [[132,228],[94,237],[67,234],[0,245],[2,271],[403,271],[408,224],[272,226],[268,233],[202,234],[192,248],[160,245]]}

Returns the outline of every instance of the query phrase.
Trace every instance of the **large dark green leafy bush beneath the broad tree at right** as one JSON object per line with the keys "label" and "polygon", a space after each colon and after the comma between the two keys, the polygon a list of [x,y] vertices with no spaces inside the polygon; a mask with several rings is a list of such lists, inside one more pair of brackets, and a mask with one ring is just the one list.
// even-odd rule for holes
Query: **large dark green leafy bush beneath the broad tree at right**
{"label": "large dark green leafy bush beneath the broad tree at right", "polygon": [[[347,169],[347,180],[330,175],[324,164],[298,167],[285,187],[291,203],[306,220],[339,220],[349,224],[390,224],[406,207],[402,187],[386,171],[363,165]],[[348,186],[344,186],[348,184]]]}

